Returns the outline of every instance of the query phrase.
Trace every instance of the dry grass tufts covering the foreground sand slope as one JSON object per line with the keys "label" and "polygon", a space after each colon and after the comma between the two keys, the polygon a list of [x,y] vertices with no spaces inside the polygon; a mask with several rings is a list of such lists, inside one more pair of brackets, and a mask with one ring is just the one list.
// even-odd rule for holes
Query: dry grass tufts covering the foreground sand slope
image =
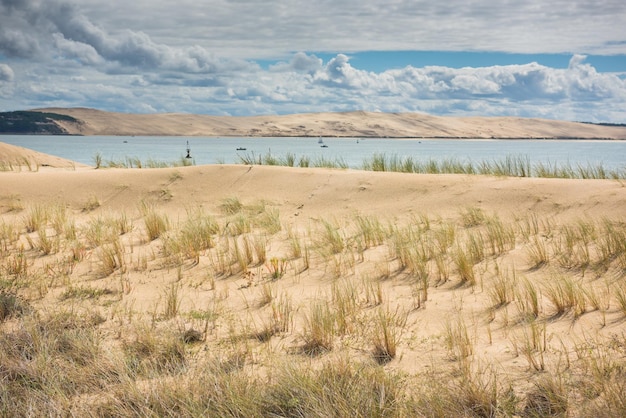
{"label": "dry grass tufts covering the foreground sand slope", "polygon": [[626,412],[621,220],[101,211],[0,215],[0,415]]}

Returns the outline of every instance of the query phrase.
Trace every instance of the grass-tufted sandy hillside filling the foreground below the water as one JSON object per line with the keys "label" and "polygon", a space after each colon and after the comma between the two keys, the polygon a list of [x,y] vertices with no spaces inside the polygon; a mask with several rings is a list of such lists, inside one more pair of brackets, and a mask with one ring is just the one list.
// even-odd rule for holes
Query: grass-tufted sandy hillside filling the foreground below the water
{"label": "grass-tufted sandy hillside filling the foreground below the water", "polygon": [[[20,283],[9,290],[40,313],[0,322],[0,376],[20,395],[7,405],[221,415],[242,390],[241,416],[370,416],[377,405],[386,416],[619,415],[624,208],[617,180],[245,165],[0,172],[2,283]],[[87,328],[95,349],[91,334],[72,340],[85,325],[32,325],[68,309],[100,318]],[[41,355],[7,349],[21,329],[48,330],[37,347],[55,342]],[[159,351],[168,344],[173,357]],[[323,367],[336,374],[312,407]],[[332,388],[351,373],[351,386]],[[324,398],[357,396],[376,376],[391,379],[367,395],[376,402]],[[272,392],[282,384],[284,398]],[[204,403],[206,387],[219,396]]]}

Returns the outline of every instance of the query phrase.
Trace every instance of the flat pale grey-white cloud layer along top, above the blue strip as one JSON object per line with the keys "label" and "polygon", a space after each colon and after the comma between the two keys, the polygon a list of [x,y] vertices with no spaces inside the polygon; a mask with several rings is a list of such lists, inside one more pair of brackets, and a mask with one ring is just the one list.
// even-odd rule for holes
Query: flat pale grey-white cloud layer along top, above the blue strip
{"label": "flat pale grey-white cloud layer along top, above the blue strip", "polygon": [[87,16],[97,16],[106,27],[134,27],[157,42],[201,45],[222,57],[364,50],[626,53],[622,0],[83,0],[81,4]]}

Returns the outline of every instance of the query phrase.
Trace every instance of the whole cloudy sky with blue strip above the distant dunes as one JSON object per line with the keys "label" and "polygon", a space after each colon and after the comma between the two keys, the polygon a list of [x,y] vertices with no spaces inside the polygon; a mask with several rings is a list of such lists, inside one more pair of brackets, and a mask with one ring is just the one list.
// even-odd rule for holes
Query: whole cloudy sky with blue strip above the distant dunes
{"label": "whole cloudy sky with blue strip above the distant dunes", "polygon": [[0,110],[626,123],[624,0],[0,0]]}

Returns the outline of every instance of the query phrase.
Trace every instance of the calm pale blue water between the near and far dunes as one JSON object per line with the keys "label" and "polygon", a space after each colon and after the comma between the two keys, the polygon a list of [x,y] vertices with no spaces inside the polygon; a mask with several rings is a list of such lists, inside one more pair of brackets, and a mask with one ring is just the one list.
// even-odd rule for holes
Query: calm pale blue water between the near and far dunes
{"label": "calm pale blue water between the near and far dunes", "polygon": [[[19,145],[94,165],[96,154],[103,161],[124,161],[127,157],[161,162],[180,161],[187,142],[196,165],[240,163],[241,156],[267,155],[331,161],[341,160],[351,168],[376,153],[410,156],[415,161],[455,159],[461,162],[501,161],[507,156],[528,157],[532,164],[548,163],[606,169],[626,167],[626,141],[607,140],[484,140],[484,139],[388,139],[324,138],[204,138],[204,137],[121,137],[121,136],[0,136],[0,142]],[[238,151],[237,148],[245,148]]]}

